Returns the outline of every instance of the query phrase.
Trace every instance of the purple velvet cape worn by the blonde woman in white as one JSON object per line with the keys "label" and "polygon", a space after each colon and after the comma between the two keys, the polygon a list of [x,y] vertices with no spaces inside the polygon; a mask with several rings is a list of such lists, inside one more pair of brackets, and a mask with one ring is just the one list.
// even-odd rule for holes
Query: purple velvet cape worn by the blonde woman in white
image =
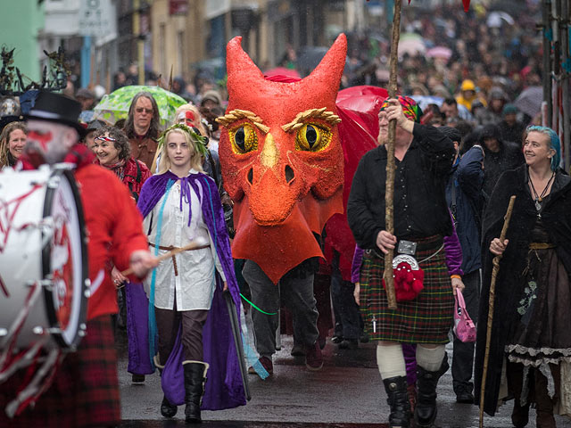
{"label": "purple velvet cape worn by the blonde woman in white", "polygon": [[[143,217],[146,217],[161,200],[169,180],[177,181],[178,179],[179,177],[168,171],[150,177],[145,181],[137,203]],[[240,294],[218,189],[214,181],[204,174],[191,174],[182,178],[181,181],[183,186],[185,185],[184,181],[187,181],[199,197],[201,195],[199,188],[202,188],[203,220],[208,226],[212,239],[215,239],[216,236],[216,251],[227,279],[228,291],[232,295],[236,309],[239,309]],[[220,410],[246,404],[244,384],[242,383],[236,346],[230,326],[228,307],[222,295],[222,282],[218,273],[216,277],[217,286],[203,329],[204,361],[210,365],[202,404],[202,408],[205,410]],[[153,374],[153,356],[149,355],[147,326],[149,300],[143,284],[128,284],[126,292],[128,372],[132,374]],[[172,350],[173,353],[175,351]],[[178,370],[182,376],[183,367],[178,367]]]}

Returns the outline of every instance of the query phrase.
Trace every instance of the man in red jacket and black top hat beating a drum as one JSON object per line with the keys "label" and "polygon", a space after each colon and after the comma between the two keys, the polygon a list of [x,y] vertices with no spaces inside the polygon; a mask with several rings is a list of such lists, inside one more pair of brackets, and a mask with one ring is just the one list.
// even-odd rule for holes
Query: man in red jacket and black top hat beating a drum
{"label": "man in red jacket and black top hat beating a drum", "polygon": [[[66,161],[76,165],[88,236],[91,296],[87,303],[87,335],[77,352],[63,359],[54,383],[34,408],[12,420],[0,412],[0,426],[112,426],[120,423],[117,357],[112,314],[118,311],[110,266],[132,268],[145,276],[156,264],[148,251],[142,218],[128,189],[111,172],[93,164],[94,156],[78,144],[80,104],[52,93],[40,93],[28,115],[29,138],[22,169]],[[0,392],[4,409],[19,391],[26,370],[12,375]]]}

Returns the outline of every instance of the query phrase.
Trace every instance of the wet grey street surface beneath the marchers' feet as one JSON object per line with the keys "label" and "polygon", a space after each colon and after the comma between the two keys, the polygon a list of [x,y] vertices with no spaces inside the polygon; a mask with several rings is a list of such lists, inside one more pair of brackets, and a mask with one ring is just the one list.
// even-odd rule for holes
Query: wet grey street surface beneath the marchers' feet
{"label": "wet grey street surface beneath the marchers' feet", "polygon": [[[291,357],[292,337],[282,335],[282,350],[274,356],[274,374],[266,380],[249,375],[252,399],[244,407],[217,412],[203,411],[204,427],[221,428],[385,428],[388,418],[385,391],[377,371],[376,345],[360,344],[358,350],[338,350],[327,341],[325,364],[319,372],[305,368],[303,357]],[[183,427],[184,407],[172,420],[161,416],[162,399],[158,374],[146,376],[145,383],[131,383],[127,373],[127,350],[119,340],[122,428]],[[451,352],[449,350],[449,358]],[[513,401],[501,407],[495,417],[484,418],[485,427],[511,427]],[[439,427],[476,428],[476,406],[457,404],[452,391],[451,372],[438,385]],[[530,412],[533,428],[534,410]],[[557,416],[559,428],[571,428],[571,421]]]}

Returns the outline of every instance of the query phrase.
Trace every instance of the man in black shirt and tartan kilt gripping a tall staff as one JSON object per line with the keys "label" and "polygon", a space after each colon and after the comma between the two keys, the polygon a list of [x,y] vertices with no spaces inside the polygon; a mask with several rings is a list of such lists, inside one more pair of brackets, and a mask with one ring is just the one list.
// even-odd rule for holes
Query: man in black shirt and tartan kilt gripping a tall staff
{"label": "man in black shirt and tartan kilt gripping a tall staff", "polygon": [[[365,250],[360,271],[360,308],[371,339],[378,341],[377,364],[391,407],[390,427],[410,426],[401,343],[417,343],[418,427],[436,417],[436,384],[452,325],[454,299],[445,264],[443,236],[451,235],[444,188],[454,145],[437,128],[421,125],[422,112],[406,96],[385,101],[379,112],[379,141],[353,177],[347,207],[355,240]],[[385,230],[389,121],[396,120],[394,235]],[[384,257],[393,249],[398,309],[389,309]]]}

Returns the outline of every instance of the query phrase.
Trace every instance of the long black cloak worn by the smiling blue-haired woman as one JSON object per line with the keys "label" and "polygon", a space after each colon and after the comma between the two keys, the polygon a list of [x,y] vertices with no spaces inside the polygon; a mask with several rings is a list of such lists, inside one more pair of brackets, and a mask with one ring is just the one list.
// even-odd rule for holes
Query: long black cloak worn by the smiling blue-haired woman
{"label": "long black cloak worn by the smiling blue-haired woman", "polygon": [[[571,179],[558,173],[559,189],[550,193],[542,210],[542,225],[550,236],[550,242],[557,245],[557,254],[571,273]],[[537,220],[534,201],[527,190],[527,166],[503,173],[494,187],[492,197],[484,215],[484,240],[482,252],[484,260],[484,283],[480,299],[479,323],[476,339],[475,383],[476,403],[480,401],[480,388],[484,366],[484,350],[489,309],[492,259],[490,243],[500,237],[503,218],[508,209],[509,198],[516,195],[516,202],[507,238],[508,247],[500,263],[500,271],[495,286],[495,299],[490,342],[490,360],[485,383],[485,412],[493,416],[496,411],[501,383],[501,366],[504,347],[508,341],[509,326],[517,320],[517,300],[520,289],[525,284],[524,269],[531,232]]]}

